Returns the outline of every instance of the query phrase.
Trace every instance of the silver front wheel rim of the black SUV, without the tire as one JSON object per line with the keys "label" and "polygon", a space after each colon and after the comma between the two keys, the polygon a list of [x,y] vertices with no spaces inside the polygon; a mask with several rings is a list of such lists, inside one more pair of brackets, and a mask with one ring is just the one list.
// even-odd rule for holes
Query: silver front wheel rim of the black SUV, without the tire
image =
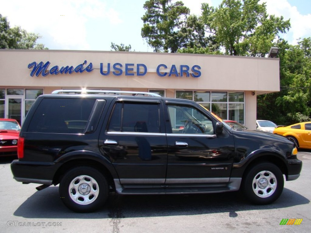
{"label": "silver front wheel rim of the black SUV, without the tire", "polygon": [[271,171],[260,171],[254,177],[252,186],[258,197],[270,197],[277,187],[276,176]]}

